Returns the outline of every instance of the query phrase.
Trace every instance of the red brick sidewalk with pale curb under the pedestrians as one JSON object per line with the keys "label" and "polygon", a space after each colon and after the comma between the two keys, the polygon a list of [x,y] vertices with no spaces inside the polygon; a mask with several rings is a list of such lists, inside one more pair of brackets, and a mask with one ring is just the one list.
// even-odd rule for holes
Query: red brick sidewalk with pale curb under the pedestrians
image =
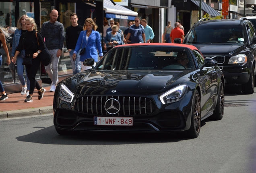
{"label": "red brick sidewalk with pale curb under the pedestrians", "polygon": [[0,101],[0,119],[52,113],[54,92],[50,92],[50,85],[42,87],[46,89],[43,98],[38,100],[35,89],[30,103],[24,102],[26,96],[21,93],[8,94],[9,99]]}

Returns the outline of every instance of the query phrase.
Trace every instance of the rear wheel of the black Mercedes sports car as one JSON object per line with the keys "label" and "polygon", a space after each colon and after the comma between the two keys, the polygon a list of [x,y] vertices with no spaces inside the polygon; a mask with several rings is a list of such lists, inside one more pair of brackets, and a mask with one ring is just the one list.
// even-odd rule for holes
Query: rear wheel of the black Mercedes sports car
{"label": "rear wheel of the black Mercedes sports car", "polygon": [[213,111],[213,115],[211,119],[221,120],[224,115],[224,106],[225,106],[225,97],[224,97],[224,86],[222,81],[220,82],[219,94],[217,97],[217,104],[215,110]]}

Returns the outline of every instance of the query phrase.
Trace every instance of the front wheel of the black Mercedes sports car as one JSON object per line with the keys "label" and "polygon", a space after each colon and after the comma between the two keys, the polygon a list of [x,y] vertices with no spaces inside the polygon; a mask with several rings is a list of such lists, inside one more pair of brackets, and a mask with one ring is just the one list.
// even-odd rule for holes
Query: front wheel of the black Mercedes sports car
{"label": "front wheel of the black Mercedes sports car", "polygon": [[192,112],[191,112],[191,125],[188,129],[187,136],[190,138],[197,138],[201,129],[201,105],[200,96],[196,90],[193,97]]}

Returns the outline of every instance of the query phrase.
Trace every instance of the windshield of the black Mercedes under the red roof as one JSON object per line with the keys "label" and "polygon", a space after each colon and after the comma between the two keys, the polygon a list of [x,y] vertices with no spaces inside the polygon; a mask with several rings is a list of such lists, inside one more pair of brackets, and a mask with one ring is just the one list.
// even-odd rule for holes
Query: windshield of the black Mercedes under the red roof
{"label": "windshield of the black Mercedes under the red roof", "polygon": [[195,69],[189,50],[153,47],[120,47],[107,52],[98,70],[186,70]]}

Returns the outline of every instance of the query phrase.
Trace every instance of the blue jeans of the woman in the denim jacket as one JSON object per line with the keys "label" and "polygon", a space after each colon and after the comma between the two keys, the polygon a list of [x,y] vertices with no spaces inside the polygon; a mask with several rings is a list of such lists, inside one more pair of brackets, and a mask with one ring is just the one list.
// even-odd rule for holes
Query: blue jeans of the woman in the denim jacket
{"label": "blue jeans of the woman in the denim jacket", "polygon": [[[23,52],[21,52],[21,53],[17,56],[16,64],[17,64],[17,74],[18,74],[19,80],[21,81],[21,84],[22,84],[22,85],[25,85],[26,82],[25,82],[25,78],[24,78],[24,76],[23,76],[24,65],[22,65],[22,62],[23,62],[22,53],[23,53]],[[27,78],[27,90],[29,90],[30,81],[29,81],[29,78],[28,78],[28,76],[27,76],[27,70],[25,70],[25,72],[26,72],[26,78]]]}

